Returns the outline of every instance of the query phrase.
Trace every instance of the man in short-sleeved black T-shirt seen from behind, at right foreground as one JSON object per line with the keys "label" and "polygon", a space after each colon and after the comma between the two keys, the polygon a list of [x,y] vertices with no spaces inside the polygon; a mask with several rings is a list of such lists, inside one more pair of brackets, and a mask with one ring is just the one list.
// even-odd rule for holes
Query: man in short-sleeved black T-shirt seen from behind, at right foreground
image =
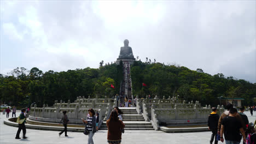
{"label": "man in short-sleeved black T-shirt seen from behind, at right foreground", "polygon": [[237,110],[232,107],[229,110],[229,116],[223,118],[222,127],[220,128],[220,141],[224,142],[224,134],[226,144],[239,144],[242,136],[243,142],[246,142],[245,131],[243,130],[241,122],[236,118],[236,114]]}

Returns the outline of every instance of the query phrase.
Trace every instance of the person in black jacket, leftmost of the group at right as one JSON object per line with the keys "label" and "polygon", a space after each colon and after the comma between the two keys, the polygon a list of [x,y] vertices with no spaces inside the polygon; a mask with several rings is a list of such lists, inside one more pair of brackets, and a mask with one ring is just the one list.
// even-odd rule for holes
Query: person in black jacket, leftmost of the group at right
{"label": "person in black jacket, leftmost of the group at right", "polygon": [[212,131],[212,136],[210,140],[211,144],[213,142],[214,137],[215,137],[214,144],[218,143],[218,140],[217,140],[218,122],[219,122],[219,115],[217,113],[217,108],[212,107],[212,113],[208,117],[208,129]]}

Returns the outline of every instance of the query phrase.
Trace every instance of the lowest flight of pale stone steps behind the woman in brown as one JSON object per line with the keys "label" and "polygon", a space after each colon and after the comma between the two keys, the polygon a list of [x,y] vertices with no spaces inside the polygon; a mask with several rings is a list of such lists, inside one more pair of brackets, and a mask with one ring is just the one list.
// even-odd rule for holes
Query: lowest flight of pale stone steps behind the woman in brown
{"label": "lowest flight of pale stone steps behind the woman in brown", "polygon": [[[123,111],[123,123],[125,130],[154,130],[150,122],[146,122],[142,115],[139,115],[135,107],[119,107]],[[100,129],[108,129],[106,121],[101,125]]]}

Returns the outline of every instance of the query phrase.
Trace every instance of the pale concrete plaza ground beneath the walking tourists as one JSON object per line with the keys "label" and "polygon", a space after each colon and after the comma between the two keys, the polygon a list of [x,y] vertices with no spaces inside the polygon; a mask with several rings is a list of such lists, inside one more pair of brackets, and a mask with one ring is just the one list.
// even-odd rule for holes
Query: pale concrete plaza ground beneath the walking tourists
{"label": "pale concrete plaza ground beneath the walking tourists", "polygon": [[[19,115],[20,112],[17,112]],[[256,112],[253,116],[249,112],[245,112],[248,116],[249,122],[254,122],[256,119]],[[11,117],[11,116],[10,116]],[[9,117],[9,118],[10,118]],[[88,136],[83,133],[69,132],[68,137],[62,134],[59,137],[59,131],[49,130],[34,130],[27,129],[26,136],[28,139],[16,140],[15,135],[18,128],[5,125],[3,123],[5,115],[0,114],[0,143],[87,143]],[[22,131],[20,134],[22,137]],[[197,132],[197,133],[164,133],[162,131],[154,130],[126,130],[122,135],[122,144],[125,143],[194,143],[206,144],[209,143],[211,132]],[[100,130],[94,135],[94,143],[107,143],[107,130]],[[222,142],[219,142],[222,143]],[[241,142],[242,143],[242,142]]]}

